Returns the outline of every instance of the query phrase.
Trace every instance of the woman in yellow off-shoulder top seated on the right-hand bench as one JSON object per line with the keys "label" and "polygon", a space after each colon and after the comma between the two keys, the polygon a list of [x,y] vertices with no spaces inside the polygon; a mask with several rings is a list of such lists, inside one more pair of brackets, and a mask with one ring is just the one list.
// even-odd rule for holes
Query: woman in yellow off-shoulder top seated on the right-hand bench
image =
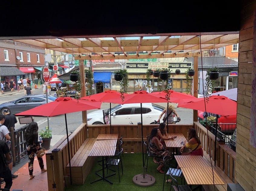
{"label": "woman in yellow off-shoulder top seated on the right-hand bench", "polygon": [[188,142],[180,148],[180,152],[183,152],[184,148],[191,149],[192,151],[184,152],[182,155],[198,155],[203,157],[203,149],[201,147],[201,141],[196,134],[196,130],[190,128],[188,130]]}

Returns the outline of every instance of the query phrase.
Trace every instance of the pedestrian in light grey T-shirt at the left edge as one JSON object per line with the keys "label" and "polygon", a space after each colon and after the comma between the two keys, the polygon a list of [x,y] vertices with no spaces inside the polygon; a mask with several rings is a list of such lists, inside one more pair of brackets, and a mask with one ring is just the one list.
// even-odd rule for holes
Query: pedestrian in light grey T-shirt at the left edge
{"label": "pedestrian in light grey T-shirt at the left edge", "polygon": [[[0,114],[0,140],[5,140],[7,142],[11,139],[11,137],[9,135],[9,131],[8,131],[7,127],[5,125],[3,125],[4,122],[5,122],[5,116],[3,114]],[[9,152],[9,155],[10,155],[10,159],[6,160],[6,163],[7,163],[8,167],[11,171],[12,170],[12,154],[11,154],[11,151]],[[12,174],[12,179],[15,179],[17,177],[18,177],[18,175]]]}

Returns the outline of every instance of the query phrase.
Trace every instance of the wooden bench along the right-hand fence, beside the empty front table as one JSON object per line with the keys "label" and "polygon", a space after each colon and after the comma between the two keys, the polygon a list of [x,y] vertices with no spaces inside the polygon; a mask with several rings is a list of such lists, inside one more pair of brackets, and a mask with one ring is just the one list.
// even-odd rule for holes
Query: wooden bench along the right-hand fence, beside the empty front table
{"label": "wooden bench along the right-hand fence, beside the empty front table", "polygon": [[[212,159],[210,159],[210,156],[209,156],[209,154],[207,154],[204,150],[203,150],[203,152],[204,152],[204,156],[203,156],[203,158],[204,159],[206,159],[206,161],[208,162],[208,164],[211,166],[211,162],[210,162],[210,160],[212,160]],[[224,190],[227,190],[227,188],[228,188],[228,183],[234,183],[232,180],[230,180],[230,178],[224,173],[224,171],[222,171],[222,169],[221,168],[219,168],[218,166],[217,166],[217,164],[216,164],[216,166],[214,166],[214,161],[212,160],[212,167],[213,167],[213,169],[217,172],[217,174],[219,175],[219,177],[222,179],[222,181],[225,183],[225,184],[223,184],[223,185],[215,185],[215,188],[216,188],[216,190],[219,190],[219,191],[224,191]],[[205,189],[205,190],[214,190],[214,188],[213,188],[213,185],[212,186],[203,186],[203,188]]]}

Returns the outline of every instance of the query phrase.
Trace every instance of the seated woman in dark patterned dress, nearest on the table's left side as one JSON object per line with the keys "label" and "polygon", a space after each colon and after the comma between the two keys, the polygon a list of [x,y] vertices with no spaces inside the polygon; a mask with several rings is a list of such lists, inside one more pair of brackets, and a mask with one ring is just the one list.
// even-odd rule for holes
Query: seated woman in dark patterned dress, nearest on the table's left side
{"label": "seated woman in dark patterned dress, nearest on the table's left side", "polygon": [[157,159],[159,160],[159,166],[157,167],[157,171],[159,171],[160,173],[164,173],[164,171],[162,170],[163,166],[164,166],[164,156],[169,156],[171,157],[171,153],[167,150],[164,149],[164,146],[162,145],[162,143],[159,142],[157,135],[160,134],[160,130],[159,128],[155,127],[151,130],[151,134],[148,137],[148,152],[152,155],[152,156],[156,156]]}

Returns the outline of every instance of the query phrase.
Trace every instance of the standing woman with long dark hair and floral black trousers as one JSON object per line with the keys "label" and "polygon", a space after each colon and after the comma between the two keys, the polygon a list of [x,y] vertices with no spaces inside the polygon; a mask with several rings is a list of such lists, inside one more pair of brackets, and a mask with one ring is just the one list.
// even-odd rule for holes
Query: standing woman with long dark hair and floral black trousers
{"label": "standing woman with long dark hair and floral black trousers", "polygon": [[[28,153],[28,171],[29,171],[29,180],[32,180],[35,175],[33,175],[33,164],[34,157],[37,150],[41,149],[40,143],[43,141],[38,141],[38,125],[36,122],[31,122],[25,132],[25,140],[27,142],[27,153]],[[46,172],[44,168],[44,161],[42,157],[37,157],[39,166],[41,168],[41,173]]]}

